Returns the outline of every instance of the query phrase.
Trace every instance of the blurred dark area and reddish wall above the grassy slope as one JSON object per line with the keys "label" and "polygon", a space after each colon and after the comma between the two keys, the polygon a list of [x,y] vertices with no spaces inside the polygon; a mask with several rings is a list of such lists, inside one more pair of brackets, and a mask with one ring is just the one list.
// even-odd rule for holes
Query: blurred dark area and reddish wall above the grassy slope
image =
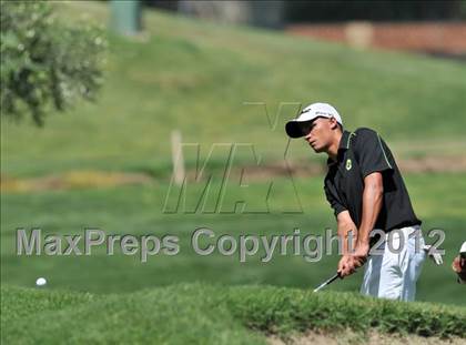
{"label": "blurred dark area and reddish wall above the grassy slope", "polygon": [[144,1],[202,19],[304,37],[465,58],[466,2],[454,1]]}

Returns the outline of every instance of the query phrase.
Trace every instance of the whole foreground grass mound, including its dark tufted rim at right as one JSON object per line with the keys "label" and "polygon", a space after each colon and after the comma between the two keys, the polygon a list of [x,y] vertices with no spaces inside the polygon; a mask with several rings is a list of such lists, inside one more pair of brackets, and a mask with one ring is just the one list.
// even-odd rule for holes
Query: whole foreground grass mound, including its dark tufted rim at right
{"label": "whole foreground grass mound, including its dark tufted rim at right", "polygon": [[6,344],[265,344],[265,334],[305,329],[352,327],[364,338],[367,325],[466,337],[464,308],[267,286],[172,285],[124,295],[2,287],[1,305]]}

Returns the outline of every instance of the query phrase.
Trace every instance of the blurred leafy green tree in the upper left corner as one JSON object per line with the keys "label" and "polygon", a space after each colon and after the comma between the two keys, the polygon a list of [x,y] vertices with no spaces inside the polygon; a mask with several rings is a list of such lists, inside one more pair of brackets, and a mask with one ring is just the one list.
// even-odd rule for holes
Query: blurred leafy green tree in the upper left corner
{"label": "blurred leafy green tree in the upper left corner", "polygon": [[102,82],[102,30],[59,22],[45,1],[0,0],[1,115],[31,115],[42,125],[47,112],[77,99],[94,100]]}

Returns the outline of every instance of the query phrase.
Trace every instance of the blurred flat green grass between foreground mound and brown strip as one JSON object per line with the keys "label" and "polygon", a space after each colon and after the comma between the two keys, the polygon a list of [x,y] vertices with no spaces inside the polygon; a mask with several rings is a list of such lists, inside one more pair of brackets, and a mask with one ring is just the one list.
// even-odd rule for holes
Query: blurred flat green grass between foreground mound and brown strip
{"label": "blurred flat green grass between foreground mound and brown strip", "polygon": [[[445,184],[445,181],[449,181]],[[465,202],[458,191],[466,190],[465,174],[408,175],[407,185],[418,216],[424,221],[425,235],[434,227],[445,230],[442,247],[446,250],[445,265],[426,262],[418,284],[421,301],[465,305],[459,298],[463,286],[455,282],[449,264],[464,241]],[[165,214],[162,206],[166,185],[125,186],[103,190],[75,190],[30,194],[2,194],[1,213],[1,278],[9,284],[33,286],[39,276],[49,280],[51,288],[69,288],[95,293],[132,292],[140,288],[182,282],[221,282],[224,284],[270,284],[310,288],[327,278],[335,270],[337,255],[323,255],[320,262],[304,260],[305,252],[287,255],[275,252],[267,263],[260,261],[263,252],[240,263],[237,254],[222,256],[215,251],[210,256],[194,253],[191,235],[197,227],[211,229],[216,239],[229,234],[265,235],[292,234],[301,229],[302,237],[322,234],[325,227],[335,232],[333,214],[323,197],[322,179],[295,181],[303,213],[284,214],[292,210],[296,197],[284,179],[274,180],[270,195],[271,213],[264,214]],[[429,187],[426,189],[425,186]],[[219,184],[213,184],[212,191]],[[231,189],[224,205],[245,200],[246,210],[265,209],[267,183],[252,183],[246,191]],[[201,189],[189,187],[188,205],[195,204]],[[213,195],[213,194],[212,194]],[[440,201],[439,201],[440,200]],[[206,205],[213,204],[213,197]],[[139,254],[104,255],[98,248],[92,256],[24,256],[16,254],[16,229],[41,227],[44,234],[83,234],[84,227],[97,227],[110,234],[142,236],[166,234],[180,237],[180,253],[175,256],[158,254],[146,263]],[[435,239],[426,242],[433,243]],[[215,241],[209,241],[215,244]],[[207,243],[205,243],[206,245]],[[362,274],[337,282],[330,288],[357,291]],[[438,285],[442,282],[442,285]],[[433,288],[433,286],[436,286]]]}

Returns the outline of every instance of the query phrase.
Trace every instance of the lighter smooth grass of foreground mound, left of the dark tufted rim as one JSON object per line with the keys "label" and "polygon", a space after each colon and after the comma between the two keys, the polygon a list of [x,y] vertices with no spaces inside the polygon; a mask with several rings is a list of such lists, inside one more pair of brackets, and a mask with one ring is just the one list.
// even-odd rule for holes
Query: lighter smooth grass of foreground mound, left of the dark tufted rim
{"label": "lighter smooth grass of foreground mound, left of the dark tufted rim", "polygon": [[[97,296],[2,290],[2,305],[9,311],[6,319],[2,313],[2,329],[6,329],[2,343],[264,343],[233,319],[224,305],[214,303],[221,297],[220,291],[211,296],[215,291],[180,285],[130,295]],[[18,308],[16,301],[22,301]],[[24,304],[37,307],[23,315]]]}

